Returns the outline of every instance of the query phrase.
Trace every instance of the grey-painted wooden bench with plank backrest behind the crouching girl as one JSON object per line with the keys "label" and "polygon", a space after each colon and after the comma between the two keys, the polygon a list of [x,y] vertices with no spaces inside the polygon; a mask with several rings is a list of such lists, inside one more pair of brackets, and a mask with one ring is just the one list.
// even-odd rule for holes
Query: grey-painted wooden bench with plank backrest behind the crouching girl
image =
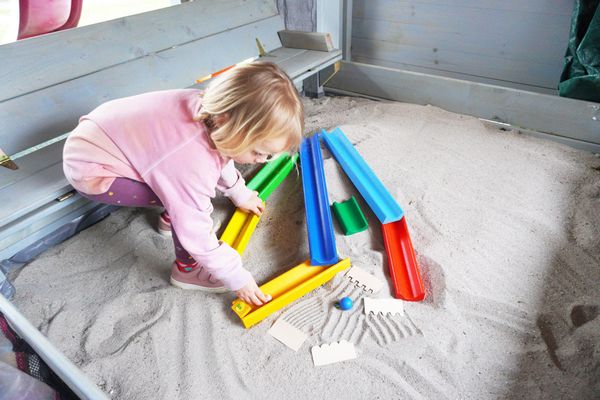
{"label": "grey-painted wooden bench with plank backrest behind the crouching girl", "polygon": [[[194,86],[197,78],[267,54],[300,87],[340,50],[281,47],[276,1],[190,3],[0,46],[0,148],[9,155],[65,135],[101,103]],[[69,196],[63,140],[0,168],[0,260],[94,207]]]}

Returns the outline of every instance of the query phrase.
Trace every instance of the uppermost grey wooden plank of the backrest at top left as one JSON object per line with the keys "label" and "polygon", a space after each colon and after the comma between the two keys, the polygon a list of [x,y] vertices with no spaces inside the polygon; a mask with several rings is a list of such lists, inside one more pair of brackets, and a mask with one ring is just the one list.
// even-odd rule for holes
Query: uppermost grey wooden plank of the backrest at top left
{"label": "uppermost grey wooden plank of the backrest at top left", "polygon": [[6,44],[0,46],[0,100],[275,15],[270,0],[196,0]]}

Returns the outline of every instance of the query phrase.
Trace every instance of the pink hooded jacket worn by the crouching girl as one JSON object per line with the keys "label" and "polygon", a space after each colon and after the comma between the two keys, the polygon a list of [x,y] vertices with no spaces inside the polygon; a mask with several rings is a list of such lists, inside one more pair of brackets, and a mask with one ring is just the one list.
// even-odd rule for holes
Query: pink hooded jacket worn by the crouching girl
{"label": "pink hooded jacket worn by the crouching girl", "polygon": [[67,139],[64,171],[77,190],[101,194],[116,177],[146,183],[167,209],[181,245],[238,290],[250,279],[239,254],[212,232],[215,189],[237,206],[252,191],[211,145],[202,121],[200,91],[167,90],[117,99],[81,117]]}

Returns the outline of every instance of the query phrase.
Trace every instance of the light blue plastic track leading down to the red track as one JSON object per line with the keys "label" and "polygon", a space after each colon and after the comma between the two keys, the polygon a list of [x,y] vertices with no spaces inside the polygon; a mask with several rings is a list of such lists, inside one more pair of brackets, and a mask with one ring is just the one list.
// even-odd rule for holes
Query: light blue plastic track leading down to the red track
{"label": "light blue plastic track leading down to the red track", "polygon": [[340,128],[335,128],[322,136],[329,151],[342,166],[379,221],[387,224],[400,220],[404,215],[402,208],[356,151],[344,132]]}

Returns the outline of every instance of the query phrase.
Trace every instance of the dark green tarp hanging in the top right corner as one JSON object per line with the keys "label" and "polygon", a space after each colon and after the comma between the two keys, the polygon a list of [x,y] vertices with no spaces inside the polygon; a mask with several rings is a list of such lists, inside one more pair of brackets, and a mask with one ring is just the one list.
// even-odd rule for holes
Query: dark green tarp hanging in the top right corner
{"label": "dark green tarp hanging in the top right corner", "polygon": [[600,102],[600,0],[576,0],[558,93]]}

